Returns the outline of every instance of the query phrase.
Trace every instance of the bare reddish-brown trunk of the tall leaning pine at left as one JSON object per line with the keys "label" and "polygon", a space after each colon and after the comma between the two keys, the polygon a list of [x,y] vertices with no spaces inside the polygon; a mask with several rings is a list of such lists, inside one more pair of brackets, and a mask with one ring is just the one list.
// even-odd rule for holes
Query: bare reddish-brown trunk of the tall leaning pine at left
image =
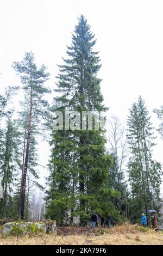
{"label": "bare reddish-brown trunk of the tall leaning pine at left", "polygon": [[24,161],[24,169],[22,170],[22,180],[21,180],[21,190],[20,190],[20,205],[18,210],[18,218],[20,220],[24,217],[24,203],[26,196],[26,177],[27,177],[27,168],[28,168],[28,157],[29,157],[29,145],[30,145],[30,134],[32,126],[32,110],[33,110],[33,90],[30,90],[30,112],[29,112],[29,121],[28,121],[28,134],[27,134],[27,147],[26,147],[26,157]]}

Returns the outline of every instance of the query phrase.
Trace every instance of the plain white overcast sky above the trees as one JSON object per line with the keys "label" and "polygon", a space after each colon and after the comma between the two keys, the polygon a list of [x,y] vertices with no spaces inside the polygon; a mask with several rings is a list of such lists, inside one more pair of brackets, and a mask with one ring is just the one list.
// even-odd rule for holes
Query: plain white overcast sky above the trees
{"label": "plain white overcast sky above the trees", "polygon": [[[98,77],[103,79],[109,114],[125,120],[133,101],[142,95],[158,127],[152,111],[163,105],[161,0],[0,0],[0,93],[9,85],[20,84],[11,63],[21,60],[24,51],[33,51],[36,63],[48,67],[48,85],[54,88],[57,64],[62,63],[66,45],[71,44],[80,14],[85,15],[97,38],[96,50],[102,60]],[[159,135],[157,143],[154,157],[163,163]],[[46,162],[48,147],[42,145],[41,161]],[[41,172],[43,180],[45,171]]]}

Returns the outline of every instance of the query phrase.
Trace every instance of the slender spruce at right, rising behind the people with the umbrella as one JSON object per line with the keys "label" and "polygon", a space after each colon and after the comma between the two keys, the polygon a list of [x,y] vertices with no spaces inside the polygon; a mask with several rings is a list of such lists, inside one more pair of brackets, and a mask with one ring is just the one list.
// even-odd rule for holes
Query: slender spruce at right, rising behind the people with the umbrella
{"label": "slender spruce at right, rising behind the people with the umbrella", "polygon": [[131,219],[137,221],[141,212],[149,209],[159,211],[161,164],[152,159],[155,145],[153,127],[145,101],[139,97],[133,103],[128,117],[128,142],[131,157],[129,160],[129,181],[131,185]]}

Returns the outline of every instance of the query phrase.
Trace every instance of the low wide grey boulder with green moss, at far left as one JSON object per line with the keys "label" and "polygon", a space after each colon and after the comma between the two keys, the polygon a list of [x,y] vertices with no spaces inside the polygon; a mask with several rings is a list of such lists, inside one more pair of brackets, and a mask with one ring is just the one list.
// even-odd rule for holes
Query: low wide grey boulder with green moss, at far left
{"label": "low wide grey boulder with green moss, at far left", "polygon": [[46,233],[46,224],[43,222],[9,222],[2,226],[2,233],[6,235],[23,235],[26,233],[34,234]]}

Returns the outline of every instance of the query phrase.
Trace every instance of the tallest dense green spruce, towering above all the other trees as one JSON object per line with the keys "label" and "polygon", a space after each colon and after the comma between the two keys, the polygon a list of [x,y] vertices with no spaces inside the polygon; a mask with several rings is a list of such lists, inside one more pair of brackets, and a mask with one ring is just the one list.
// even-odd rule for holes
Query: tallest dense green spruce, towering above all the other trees
{"label": "tallest dense green spruce, towering above all the other trees", "polygon": [[59,65],[57,89],[53,111],[64,109],[80,113],[80,127],[74,123],[72,130],[53,131],[52,155],[48,178],[47,215],[61,224],[80,216],[85,224],[90,213],[115,215],[111,198],[117,193],[109,188],[108,168],[112,157],[105,154],[105,138],[101,130],[82,130],[82,111],[105,111],[102,104],[101,68],[98,52],[93,51],[96,40],[83,15],[72,35],[72,45],[67,47],[67,59]]}

